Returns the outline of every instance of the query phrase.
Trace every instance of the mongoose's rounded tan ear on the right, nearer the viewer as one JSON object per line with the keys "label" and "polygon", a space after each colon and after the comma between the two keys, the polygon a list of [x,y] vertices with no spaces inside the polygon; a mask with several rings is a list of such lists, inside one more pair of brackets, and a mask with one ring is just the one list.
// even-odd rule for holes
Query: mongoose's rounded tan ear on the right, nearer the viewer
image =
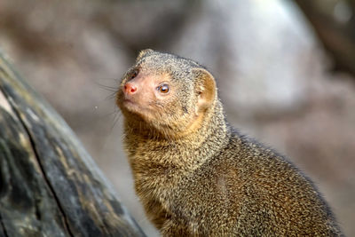
{"label": "mongoose's rounded tan ear on the right, nearer the viewer", "polygon": [[215,101],[216,81],[213,75],[204,68],[193,68],[193,74],[195,75],[195,89],[199,95],[196,112],[199,113],[211,107]]}

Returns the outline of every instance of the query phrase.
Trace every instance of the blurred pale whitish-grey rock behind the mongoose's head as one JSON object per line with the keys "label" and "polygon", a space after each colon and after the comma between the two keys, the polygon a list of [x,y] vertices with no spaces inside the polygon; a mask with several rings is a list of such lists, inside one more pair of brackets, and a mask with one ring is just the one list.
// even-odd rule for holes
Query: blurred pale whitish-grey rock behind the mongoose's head
{"label": "blurred pale whitish-grey rock behind the mongoose's head", "polygon": [[315,52],[304,23],[284,1],[210,0],[174,51],[210,67],[229,113],[249,119],[258,111],[292,110],[304,103]]}

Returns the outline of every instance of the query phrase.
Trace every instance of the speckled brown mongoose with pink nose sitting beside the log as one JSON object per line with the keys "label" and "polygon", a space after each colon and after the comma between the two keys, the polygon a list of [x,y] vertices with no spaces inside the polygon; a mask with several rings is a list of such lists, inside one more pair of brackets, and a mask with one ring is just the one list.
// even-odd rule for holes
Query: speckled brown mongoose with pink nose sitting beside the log
{"label": "speckled brown mongoose with pink nose sitting beside the log", "polygon": [[342,235],[309,178],[226,122],[197,62],[140,51],[116,104],[136,193],[163,236]]}

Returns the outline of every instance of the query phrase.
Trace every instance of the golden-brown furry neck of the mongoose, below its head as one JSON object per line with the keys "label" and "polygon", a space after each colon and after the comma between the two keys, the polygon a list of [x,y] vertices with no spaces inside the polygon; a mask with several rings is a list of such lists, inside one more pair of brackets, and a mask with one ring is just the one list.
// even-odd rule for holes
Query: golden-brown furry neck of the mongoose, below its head
{"label": "golden-brown furry neck of the mongoose, below its head", "polygon": [[[219,100],[206,112],[196,129],[184,136],[170,137],[152,129],[143,121],[125,121],[125,138],[130,162],[138,166],[148,163],[173,166],[174,170],[195,170],[216,155],[227,143],[230,132]],[[144,151],[140,160],[140,152]],[[150,154],[151,151],[151,155]],[[149,161],[146,160],[149,156]],[[133,165],[133,169],[134,169]]]}

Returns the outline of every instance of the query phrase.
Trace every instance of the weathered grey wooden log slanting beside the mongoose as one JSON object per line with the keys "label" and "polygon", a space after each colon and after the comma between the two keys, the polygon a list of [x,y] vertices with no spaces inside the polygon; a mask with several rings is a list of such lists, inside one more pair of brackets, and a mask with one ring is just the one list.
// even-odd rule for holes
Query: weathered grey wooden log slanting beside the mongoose
{"label": "weathered grey wooden log slanting beside the mongoose", "polygon": [[73,131],[1,52],[0,236],[144,236]]}

